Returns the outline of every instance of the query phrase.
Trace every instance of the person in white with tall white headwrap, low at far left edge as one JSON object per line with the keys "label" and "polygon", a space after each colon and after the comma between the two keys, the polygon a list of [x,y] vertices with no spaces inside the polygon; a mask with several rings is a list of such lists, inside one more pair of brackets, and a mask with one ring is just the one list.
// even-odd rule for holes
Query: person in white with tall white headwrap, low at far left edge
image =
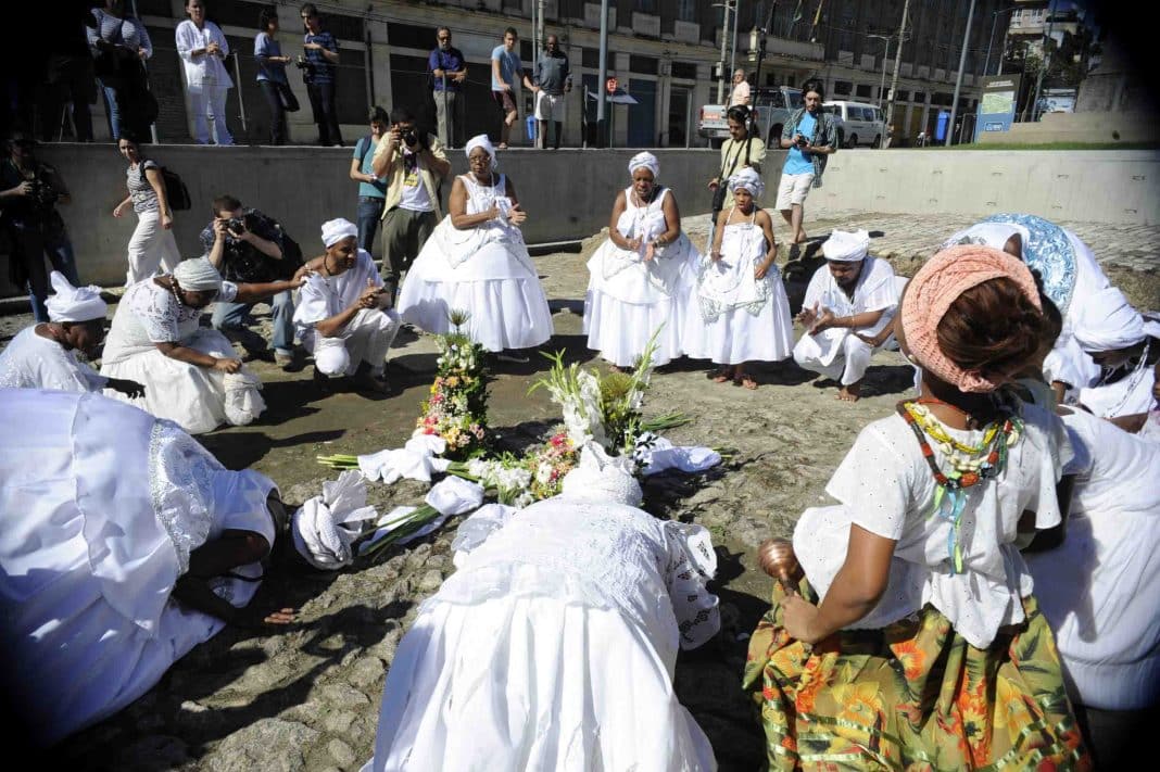
{"label": "person in white with tall white headwrap, low at far left edge", "polygon": [[95,356],[104,340],[108,306],[100,287],[73,286],[60,271],[49,278],[56,290],[44,301],[50,321],[26,327],[0,351],[0,386],[60,392],[111,388],[140,396],[140,384],[106,378],[77,358],[77,351]]}

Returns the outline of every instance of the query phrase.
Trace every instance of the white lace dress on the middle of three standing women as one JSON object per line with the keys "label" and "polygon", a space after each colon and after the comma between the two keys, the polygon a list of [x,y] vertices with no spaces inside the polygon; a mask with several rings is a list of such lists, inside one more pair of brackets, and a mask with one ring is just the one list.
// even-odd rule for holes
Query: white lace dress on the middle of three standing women
{"label": "white lace dress on the middle of three standing women", "polygon": [[[662,188],[646,206],[636,206],[632,188],[624,191],[625,210],[616,230],[625,239],[651,241],[664,233]],[[684,352],[682,335],[696,282],[697,250],[680,238],[645,261],[645,247],[621,249],[611,239],[588,261],[588,292],[583,304],[583,332],[588,348],[621,367],[631,367],[653,333],[660,329],[654,365],[664,365]]]}

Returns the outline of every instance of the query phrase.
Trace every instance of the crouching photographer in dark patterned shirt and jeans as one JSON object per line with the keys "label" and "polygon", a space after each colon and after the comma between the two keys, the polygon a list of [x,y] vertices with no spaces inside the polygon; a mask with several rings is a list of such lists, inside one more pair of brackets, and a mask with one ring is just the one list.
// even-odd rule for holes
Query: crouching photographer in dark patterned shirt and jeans
{"label": "crouching photographer in dark patterned shirt and jeans", "polygon": [[[213,199],[213,221],[202,231],[205,256],[230,282],[264,284],[290,278],[297,263],[283,254],[282,227],[256,209],[242,209],[233,196]],[[278,292],[270,301],[274,321],[274,360],[288,365],[293,359],[293,298]],[[252,333],[253,303],[223,303],[213,307],[213,328],[233,336],[258,356],[266,355],[266,341]]]}

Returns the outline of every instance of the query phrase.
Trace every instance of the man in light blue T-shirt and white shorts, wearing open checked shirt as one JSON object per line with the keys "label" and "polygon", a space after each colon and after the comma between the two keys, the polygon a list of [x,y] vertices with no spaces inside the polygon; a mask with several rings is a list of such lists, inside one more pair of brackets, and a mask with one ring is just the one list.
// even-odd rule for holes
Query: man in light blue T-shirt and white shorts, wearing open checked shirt
{"label": "man in light blue T-shirt and white shorts, wearing open checked shirt", "polygon": [[820,80],[802,86],[805,107],[793,111],[782,129],[782,150],[788,150],[782,181],[777,185],[777,209],[790,226],[790,258],[797,257],[805,241],[805,198],[811,188],[821,187],[826,156],[838,152],[834,116],[821,109],[826,93]]}

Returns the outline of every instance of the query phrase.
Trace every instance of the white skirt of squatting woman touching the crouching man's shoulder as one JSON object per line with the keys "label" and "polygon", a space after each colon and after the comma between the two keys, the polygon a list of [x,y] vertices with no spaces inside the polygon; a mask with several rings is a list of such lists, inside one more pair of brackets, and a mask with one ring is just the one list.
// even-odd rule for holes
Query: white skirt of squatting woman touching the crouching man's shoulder
{"label": "white skirt of squatting woman touching the crouching man's shoulder", "polygon": [[[181,341],[181,345],[218,358],[238,356],[225,335],[212,329],[198,329]],[[104,364],[101,374],[145,386],[144,398],[129,399],[113,389],[106,389],[106,396],[168,418],[191,435],[212,431],[224,423],[246,425],[266,409],[258,391],[261,381],[246,366],[235,374],[226,374],[179,362],[152,349]]]}

